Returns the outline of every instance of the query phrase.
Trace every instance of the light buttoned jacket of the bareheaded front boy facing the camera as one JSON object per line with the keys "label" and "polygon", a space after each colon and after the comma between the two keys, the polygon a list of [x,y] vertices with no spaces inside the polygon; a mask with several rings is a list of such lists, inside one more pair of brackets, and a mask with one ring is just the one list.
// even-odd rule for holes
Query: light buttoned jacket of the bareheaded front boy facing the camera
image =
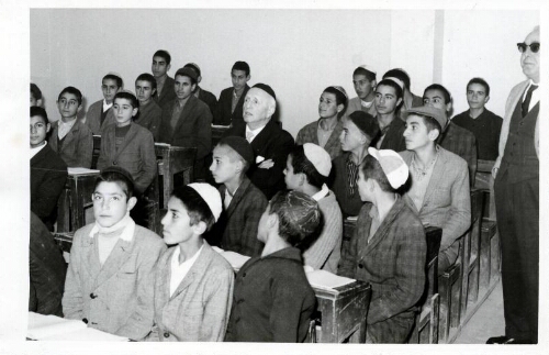
{"label": "light buttoned jacket of the bareheaded front boy facing the camera", "polygon": [[88,326],[142,340],[153,326],[154,271],[166,249],[163,240],[135,225],[132,241],[119,238],[101,266],[93,224],[75,233],[63,295],[68,319],[87,319]]}

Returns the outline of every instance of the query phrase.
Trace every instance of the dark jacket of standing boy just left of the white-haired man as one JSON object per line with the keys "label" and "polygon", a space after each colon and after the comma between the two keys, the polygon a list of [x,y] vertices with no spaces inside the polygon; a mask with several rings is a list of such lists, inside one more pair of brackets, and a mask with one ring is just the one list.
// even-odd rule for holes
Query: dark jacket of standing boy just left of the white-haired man
{"label": "dark jacket of standing boy just left of the white-haired man", "polygon": [[212,112],[208,104],[191,95],[173,130],[170,122],[176,102],[172,100],[163,109],[158,142],[197,147],[197,159],[202,159],[212,151]]}

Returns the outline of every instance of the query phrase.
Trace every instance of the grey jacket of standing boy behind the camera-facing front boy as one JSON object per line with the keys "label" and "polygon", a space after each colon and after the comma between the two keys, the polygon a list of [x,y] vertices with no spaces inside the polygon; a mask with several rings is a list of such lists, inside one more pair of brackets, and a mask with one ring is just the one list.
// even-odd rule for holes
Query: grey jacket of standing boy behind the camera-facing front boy
{"label": "grey jacket of standing boy behind the camera-facing front boy", "polygon": [[101,170],[111,165],[126,169],[134,179],[137,192],[143,193],[156,176],[153,133],[132,122],[124,142],[116,151],[115,129],[115,125],[108,126],[101,136],[98,169]]}

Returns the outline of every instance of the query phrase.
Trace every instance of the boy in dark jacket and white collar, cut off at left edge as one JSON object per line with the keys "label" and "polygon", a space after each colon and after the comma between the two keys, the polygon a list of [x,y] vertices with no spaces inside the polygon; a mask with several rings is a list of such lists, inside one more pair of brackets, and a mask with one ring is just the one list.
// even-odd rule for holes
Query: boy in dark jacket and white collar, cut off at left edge
{"label": "boy in dark jacket and white collar, cut off at left edge", "polygon": [[67,164],[46,142],[47,113],[31,107],[31,211],[54,230],[57,200],[67,181]]}

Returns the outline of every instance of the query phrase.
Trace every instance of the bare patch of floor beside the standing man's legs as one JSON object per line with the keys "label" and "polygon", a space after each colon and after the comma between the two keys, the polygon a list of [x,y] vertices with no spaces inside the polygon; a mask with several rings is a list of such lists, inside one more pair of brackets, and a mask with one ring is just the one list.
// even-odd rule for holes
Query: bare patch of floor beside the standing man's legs
{"label": "bare patch of floor beside the standing man's legs", "polygon": [[485,344],[490,336],[503,334],[505,334],[505,321],[502,281],[500,280],[489,298],[461,329],[461,334],[453,344]]}

